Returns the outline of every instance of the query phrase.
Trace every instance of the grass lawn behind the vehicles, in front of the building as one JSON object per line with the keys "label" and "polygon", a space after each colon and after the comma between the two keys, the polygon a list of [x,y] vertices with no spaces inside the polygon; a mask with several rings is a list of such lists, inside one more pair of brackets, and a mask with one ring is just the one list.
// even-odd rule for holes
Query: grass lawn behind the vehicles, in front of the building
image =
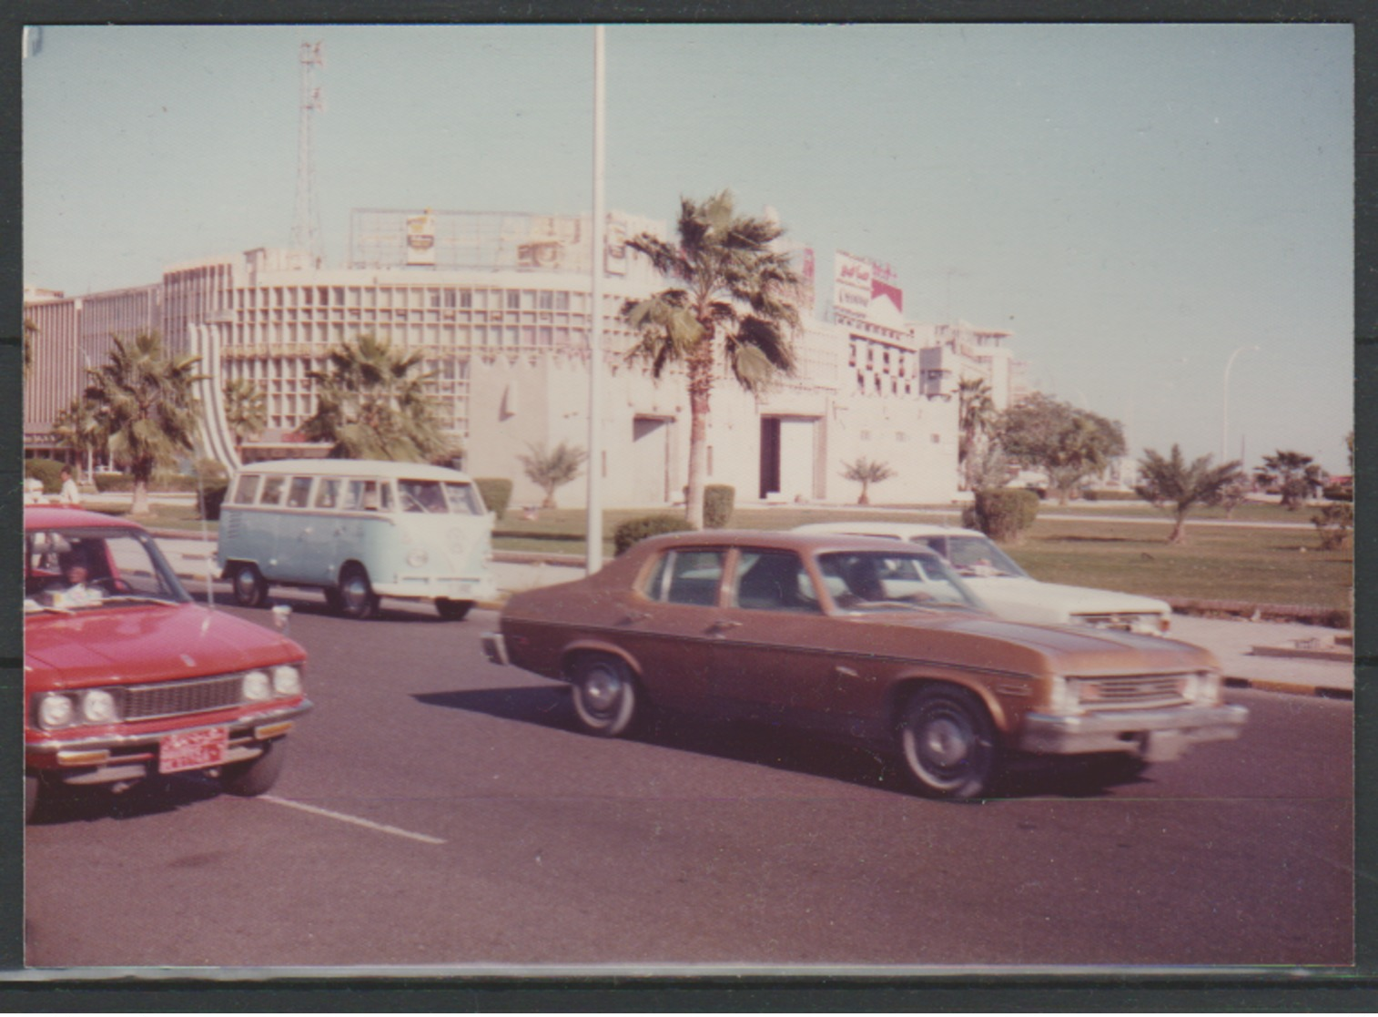
{"label": "grass lawn behind the vehicles, in front of the building", "polygon": [[[127,514],[128,506],[94,503],[90,507]],[[200,532],[194,506],[153,504],[149,515],[138,517],[147,526]],[[1186,525],[1189,543],[1167,543],[1171,524],[1145,506],[1068,506],[1075,521],[1042,518],[1017,544],[1006,551],[1031,576],[1049,583],[1071,583],[1107,590],[1124,590],[1155,597],[1250,601],[1255,604],[1301,604],[1317,608],[1349,608],[1353,575],[1352,551],[1322,551],[1316,531],[1309,526],[1310,510],[1283,511],[1277,506],[1243,506],[1237,522],[1293,522],[1304,529],[1265,526],[1202,526],[1213,518],[1202,511]],[[677,514],[667,510],[670,514]],[[1064,514],[1045,504],[1043,515]],[[644,515],[638,510],[604,511],[604,557],[612,557],[612,533],[626,520]],[[1126,522],[1126,515],[1153,518],[1153,522]],[[1222,514],[1217,514],[1220,518]],[[743,529],[790,529],[803,522],[865,518],[903,520],[960,525],[960,513],[944,506],[943,514],[915,514],[904,508],[835,510],[769,507],[737,508],[732,525]],[[205,524],[214,533],[216,524]],[[522,520],[508,510],[497,524],[497,550],[547,554],[584,553],[583,508],[542,510],[536,520]]]}

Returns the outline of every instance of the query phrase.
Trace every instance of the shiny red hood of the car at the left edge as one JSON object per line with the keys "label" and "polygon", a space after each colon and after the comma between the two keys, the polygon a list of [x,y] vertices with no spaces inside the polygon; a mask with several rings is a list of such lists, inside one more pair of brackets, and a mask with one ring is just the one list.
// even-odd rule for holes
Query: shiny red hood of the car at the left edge
{"label": "shiny red hood of the car at the left edge", "polygon": [[30,688],[197,678],[306,659],[276,631],[193,604],[37,615],[23,638]]}

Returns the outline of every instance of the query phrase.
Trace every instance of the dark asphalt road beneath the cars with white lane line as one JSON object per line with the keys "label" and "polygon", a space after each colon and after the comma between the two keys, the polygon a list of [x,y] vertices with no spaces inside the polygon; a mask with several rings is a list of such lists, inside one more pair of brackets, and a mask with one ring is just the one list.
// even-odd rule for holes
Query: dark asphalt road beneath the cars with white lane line
{"label": "dark asphalt road beneath the cars with white lane line", "polygon": [[482,659],[491,612],[354,623],[288,599],[317,708],[278,787],[183,776],[48,808],[26,839],[29,965],[1352,958],[1348,701],[1231,690],[1240,741],[949,805],[777,730],[579,734],[564,686]]}

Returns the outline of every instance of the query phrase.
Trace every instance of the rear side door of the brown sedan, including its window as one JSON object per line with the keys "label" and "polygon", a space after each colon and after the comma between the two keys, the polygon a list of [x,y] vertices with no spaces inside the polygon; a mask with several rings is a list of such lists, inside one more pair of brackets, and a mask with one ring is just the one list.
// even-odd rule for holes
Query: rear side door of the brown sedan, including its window
{"label": "rear side door of the brown sedan, including its window", "polygon": [[610,634],[657,703],[714,711],[710,650],[726,559],[723,547],[670,548],[635,590],[610,604]]}

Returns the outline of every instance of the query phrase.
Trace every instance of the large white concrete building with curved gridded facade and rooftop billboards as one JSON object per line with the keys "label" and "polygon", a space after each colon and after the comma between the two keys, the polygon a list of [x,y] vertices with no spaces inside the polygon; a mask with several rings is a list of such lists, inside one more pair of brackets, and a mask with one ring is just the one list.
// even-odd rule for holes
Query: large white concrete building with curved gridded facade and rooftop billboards
{"label": "large white concrete building with curved gridded facade and rooftop billboards", "polygon": [[[610,214],[601,256],[604,451],[609,506],[666,506],[686,484],[689,407],[682,375],[655,382],[626,351],[620,320],[628,298],[663,287],[626,245],[663,223]],[[36,369],[26,389],[25,445],[51,449],[51,423],[81,390],[84,367],[103,361],[112,335],[158,329],[171,353],[197,353],[208,380],[207,451],[245,459],[320,455],[300,437],[314,412],[310,371],[364,332],[419,350],[445,427],[464,446],[474,475],[508,477],[514,504],[539,503],[518,456],[532,445],[587,442],[591,306],[588,216],[358,209],[347,267],[316,267],[299,251],[258,248],[169,266],[147,287],[66,298],[26,294],[39,325]],[[726,373],[712,393],[710,484],[730,484],[739,503],[850,502],[842,478],[865,456],[896,475],[872,489],[879,502],[948,502],[958,492],[956,380],[988,379],[996,404],[1022,391],[1022,365],[1007,332],[921,325],[903,314],[894,274],[846,252],[834,259],[832,299],[816,314],[813,251],[794,251],[805,292],[796,336],[799,369],[752,395]],[[223,420],[222,386],[236,378],[267,395],[263,434],[241,451]],[[579,506],[584,485],[557,491]]]}

